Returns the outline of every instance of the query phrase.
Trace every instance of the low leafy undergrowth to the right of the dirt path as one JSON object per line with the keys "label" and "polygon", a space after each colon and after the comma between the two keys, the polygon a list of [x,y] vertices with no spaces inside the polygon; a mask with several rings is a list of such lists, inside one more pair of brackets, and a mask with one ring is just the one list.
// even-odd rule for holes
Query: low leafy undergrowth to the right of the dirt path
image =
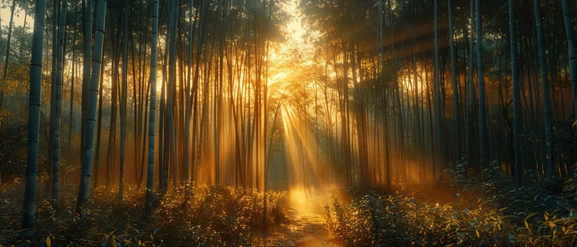
{"label": "low leafy undergrowth to the right of the dirt path", "polygon": [[575,210],[504,215],[505,208],[431,205],[394,195],[333,197],[327,227],[344,246],[575,246]]}

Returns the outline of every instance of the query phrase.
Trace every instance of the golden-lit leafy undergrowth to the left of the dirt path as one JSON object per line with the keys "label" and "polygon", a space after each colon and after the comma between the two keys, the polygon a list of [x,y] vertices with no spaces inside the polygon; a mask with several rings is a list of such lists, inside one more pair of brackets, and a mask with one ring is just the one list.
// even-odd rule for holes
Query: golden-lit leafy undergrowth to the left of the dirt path
{"label": "golden-lit leafy undergrowth to the left of the dirt path", "polygon": [[[62,205],[56,210],[49,193],[40,189],[36,212],[35,243],[52,246],[250,246],[262,231],[262,193],[243,188],[197,186],[185,200],[185,186],[158,198],[153,217],[144,217],[142,188],[128,186],[122,202],[117,188],[98,186],[91,190],[86,219],[74,212],[72,184],[63,187]],[[0,244],[18,244],[23,188],[1,194]],[[267,193],[267,222],[284,219],[279,200],[285,193]],[[49,240],[48,240],[49,239]]]}

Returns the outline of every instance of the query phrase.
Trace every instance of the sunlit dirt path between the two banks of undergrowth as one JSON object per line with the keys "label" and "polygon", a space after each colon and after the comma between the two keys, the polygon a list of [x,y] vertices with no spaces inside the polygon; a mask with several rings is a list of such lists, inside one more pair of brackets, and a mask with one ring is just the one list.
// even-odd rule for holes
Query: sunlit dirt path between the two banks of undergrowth
{"label": "sunlit dirt path between the two banks of undergrowth", "polygon": [[257,246],[340,246],[330,236],[322,215],[315,212],[287,210],[286,222],[270,229]]}

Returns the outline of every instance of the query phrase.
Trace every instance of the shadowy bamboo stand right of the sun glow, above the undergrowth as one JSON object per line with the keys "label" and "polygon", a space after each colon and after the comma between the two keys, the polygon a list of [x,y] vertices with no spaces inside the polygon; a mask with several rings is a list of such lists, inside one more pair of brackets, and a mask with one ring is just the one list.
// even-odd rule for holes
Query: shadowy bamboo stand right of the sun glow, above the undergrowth
{"label": "shadowy bamboo stand right of the sun glow, above the undergrowth", "polygon": [[[564,5],[565,20],[575,18],[569,13],[575,6],[569,3],[571,1]],[[391,154],[392,163],[397,164],[390,167],[392,179],[408,183],[422,181],[425,171],[435,169],[431,167],[433,155],[434,161],[449,155],[453,157],[441,162],[441,167],[449,167],[446,162],[460,164],[460,167],[470,163],[475,164],[475,170],[480,174],[502,162],[508,171],[515,171],[518,183],[529,169],[539,174],[549,174],[545,170],[547,167],[557,169],[557,176],[566,174],[563,169],[571,164],[561,156],[568,155],[570,151],[566,147],[552,146],[557,135],[573,138],[569,131],[571,128],[566,123],[567,112],[559,108],[569,102],[566,88],[570,85],[565,83],[569,81],[565,80],[569,73],[564,72],[569,71],[568,68],[559,66],[561,61],[574,60],[571,59],[573,50],[560,49],[558,44],[563,41],[554,38],[559,37],[559,28],[554,28],[558,24],[554,23],[559,23],[561,18],[561,2],[540,5],[543,11],[547,11],[541,25],[552,30],[551,35],[541,39],[542,48],[549,51],[542,57],[550,63],[546,66],[554,68],[554,71],[541,73],[536,69],[540,62],[537,51],[540,39],[535,29],[535,16],[528,14],[534,13],[534,8],[511,4],[511,13],[516,9],[523,14],[511,17],[515,19],[506,25],[506,21],[496,20],[506,19],[502,13],[506,13],[507,6],[494,1],[447,1],[446,4],[441,1],[438,4],[448,8],[444,8],[446,12],[443,11],[437,18],[435,12],[441,11],[441,8],[436,6],[436,1],[397,2],[392,11],[385,4],[381,1],[353,4],[350,1],[314,0],[301,1],[300,4],[306,13],[305,23],[321,33],[318,40],[322,49],[317,49],[316,56],[325,57],[322,52],[327,49],[332,51],[326,61],[329,68],[334,70],[329,80],[338,95],[335,98],[339,104],[332,107],[339,118],[337,124],[341,126],[332,133],[339,139],[332,141],[337,143],[342,155],[334,164],[342,184],[365,183],[364,163],[375,167],[371,169],[372,179],[379,181],[385,178],[382,173],[388,169],[385,161],[387,153]],[[467,16],[469,4],[471,18]],[[539,1],[534,6],[539,6]],[[494,8],[503,11],[489,11]],[[414,24],[407,27],[409,22],[406,20],[411,16],[414,16]],[[402,21],[397,22],[396,18]],[[355,28],[351,28],[351,23]],[[448,25],[449,28],[436,31],[436,25]],[[383,30],[388,28],[390,35],[383,39]],[[509,28],[515,30],[503,31]],[[568,40],[571,40],[569,31],[572,28],[569,22],[566,25]],[[414,35],[408,35],[407,29],[412,30]],[[517,42],[515,37],[523,38]],[[509,39],[511,42],[503,42]],[[535,50],[531,47],[535,47]],[[571,44],[567,47],[571,47]],[[389,54],[385,49],[395,52]],[[504,70],[508,68],[505,61],[509,52],[509,57],[516,58],[515,53],[519,55],[511,64],[512,74]],[[540,77],[542,79],[537,80]],[[536,84],[545,80],[548,82]],[[361,101],[356,100],[356,90],[363,87],[372,88],[373,92],[377,92],[375,89],[382,90],[380,92],[385,96],[382,99],[385,100],[373,100],[373,95],[368,92],[362,92]],[[396,87],[400,88],[399,92]],[[349,97],[349,90],[355,90],[354,97]],[[549,97],[545,96],[545,92],[549,92]],[[399,104],[399,101],[403,103]],[[349,103],[354,107],[347,107]],[[552,121],[547,120],[546,103],[551,108],[549,119]],[[359,108],[361,104],[364,105]],[[509,111],[509,107],[513,111]],[[363,121],[357,117],[366,111],[374,116],[383,116],[380,120],[371,119],[368,124],[383,126],[384,134],[380,133],[379,128],[363,129]],[[512,115],[509,114],[511,112]],[[464,113],[462,120],[461,113]],[[352,114],[352,118],[349,118],[349,114]],[[511,117],[514,124],[510,123]],[[538,131],[551,127],[553,131]],[[368,160],[363,159],[364,139],[359,138],[364,131],[385,143],[383,150],[369,147],[368,157],[371,159]],[[565,140],[561,142],[565,143]],[[437,151],[433,152],[431,147]],[[422,151],[407,161],[404,149]],[[380,154],[383,154],[383,158],[379,159]],[[535,155],[537,159],[525,159],[528,155]],[[513,156],[517,158],[513,159]],[[507,164],[509,160],[516,163]],[[553,163],[540,162],[547,160]],[[565,168],[559,169],[561,167]],[[421,175],[417,178],[412,175],[414,173]]]}

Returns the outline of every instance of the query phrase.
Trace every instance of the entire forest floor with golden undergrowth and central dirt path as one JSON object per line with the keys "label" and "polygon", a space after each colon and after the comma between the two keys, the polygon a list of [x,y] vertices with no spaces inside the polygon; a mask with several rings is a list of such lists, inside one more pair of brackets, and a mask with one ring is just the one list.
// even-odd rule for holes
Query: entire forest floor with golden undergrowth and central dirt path
{"label": "entire forest floor with golden undergrowth and central dirt path", "polygon": [[[532,181],[518,188],[504,174],[487,178],[464,182],[455,176],[448,183],[412,188],[396,184],[391,194],[342,189],[296,202],[289,199],[290,193],[279,192],[269,195],[274,207],[269,211],[267,231],[260,229],[262,205],[254,204],[262,197],[242,189],[200,186],[187,211],[174,203],[182,200],[175,191],[176,196],[165,198],[153,219],[143,219],[144,198],[138,188],[129,186],[125,200],[118,203],[115,188],[99,186],[91,192],[90,219],[82,222],[74,215],[76,186],[64,188],[62,209],[66,210],[56,214],[47,200],[49,193],[40,187],[36,241],[45,243],[49,238],[53,246],[110,246],[114,242],[123,243],[117,246],[313,247],[575,243],[573,180],[562,191],[551,193]],[[42,173],[40,180],[44,184],[48,177]],[[21,241],[23,184],[21,179],[16,181],[5,183],[0,192],[0,246]]]}

